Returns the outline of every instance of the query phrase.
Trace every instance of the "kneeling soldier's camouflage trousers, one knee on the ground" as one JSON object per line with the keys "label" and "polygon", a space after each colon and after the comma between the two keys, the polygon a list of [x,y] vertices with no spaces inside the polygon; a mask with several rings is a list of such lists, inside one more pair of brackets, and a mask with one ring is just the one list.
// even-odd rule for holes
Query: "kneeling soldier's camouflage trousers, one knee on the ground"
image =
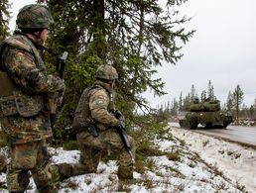
{"label": "kneeling soldier's camouflage trousers, one knee on the ground", "polygon": [[[59,163],[58,167],[62,179],[85,173],[95,173],[102,151],[118,154],[118,173],[128,171],[129,175],[132,175],[133,163],[130,154],[124,148],[120,136],[113,130],[100,132],[97,138],[93,138],[87,132],[81,132],[77,134],[77,141],[80,147],[79,163]],[[134,156],[134,140],[128,136],[128,141],[132,146]]]}

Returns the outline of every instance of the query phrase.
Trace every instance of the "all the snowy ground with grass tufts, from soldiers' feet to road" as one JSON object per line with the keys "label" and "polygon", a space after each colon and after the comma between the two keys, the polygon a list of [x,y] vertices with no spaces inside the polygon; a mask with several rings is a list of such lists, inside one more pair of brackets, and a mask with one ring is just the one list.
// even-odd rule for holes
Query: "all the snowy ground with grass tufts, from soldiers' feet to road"
{"label": "all the snowy ground with grass tufts, from soldiers' feet to road", "polygon": [[[76,192],[256,192],[256,150],[188,130],[170,128],[155,145],[166,154],[147,157],[151,163],[134,180],[119,181],[115,160],[100,162],[97,173],[70,177],[60,193]],[[79,150],[51,148],[53,162],[77,162]],[[5,173],[0,184],[5,184]],[[35,192],[31,180],[28,193]],[[0,192],[7,192],[5,189]]]}

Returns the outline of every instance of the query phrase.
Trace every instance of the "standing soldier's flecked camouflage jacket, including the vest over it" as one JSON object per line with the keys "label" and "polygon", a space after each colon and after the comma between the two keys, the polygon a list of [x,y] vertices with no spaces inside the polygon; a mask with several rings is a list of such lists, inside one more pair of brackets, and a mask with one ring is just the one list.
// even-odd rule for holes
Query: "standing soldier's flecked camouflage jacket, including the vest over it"
{"label": "standing soldier's flecked camouflage jacket, including the vest over it", "polygon": [[[3,129],[16,138],[15,143],[37,141],[52,136],[48,124],[48,102],[56,92],[64,88],[63,80],[47,73],[40,52],[23,35],[14,35],[4,41],[0,69],[8,75],[14,85],[11,95],[0,94],[0,117],[9,119],[9,125],[2,123]],[[30,122],[32,125],[29,118],[33,118],[35,125],[26,129],[29,124],[23,125],[23,122]]]}

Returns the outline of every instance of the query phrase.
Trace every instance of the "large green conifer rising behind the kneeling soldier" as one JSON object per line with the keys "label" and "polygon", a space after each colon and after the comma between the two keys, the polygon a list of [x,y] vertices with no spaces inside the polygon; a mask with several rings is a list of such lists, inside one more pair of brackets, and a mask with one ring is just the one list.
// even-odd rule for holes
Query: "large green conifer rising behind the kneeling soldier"
{"label": "large green conifer rising behind the kneeling soldier", "polygon": [[186,0],[167,1],[164,8],[155,0],[39,2],[49,5],[55,20],[49,46],[69,52],[65,117],[70,117],[101,63],[111,63],[118,71],[117,108],[127,118],[136,106],[150,110],[141,94],[147,89],[158,96],[165,94],[162,79],[153,78],[155,67],[181,59],[180,43],[187,44],[193,34],[180,27],[190,20],[177,10]]}

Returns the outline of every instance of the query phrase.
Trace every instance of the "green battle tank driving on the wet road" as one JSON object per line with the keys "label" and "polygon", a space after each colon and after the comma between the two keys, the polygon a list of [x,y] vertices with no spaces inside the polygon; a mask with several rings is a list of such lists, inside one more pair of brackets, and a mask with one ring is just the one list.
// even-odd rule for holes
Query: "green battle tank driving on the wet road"
{"label": "green battle tank driving on the wet road", "polygon": [[218,100],[210,100],[199,103],[193,102],[189,105],[184,116],[179,118],[182,128],[196,129],[198,124],[204,128],[223,128],[225,129],[233,118],[229,112],[220,110]]}

